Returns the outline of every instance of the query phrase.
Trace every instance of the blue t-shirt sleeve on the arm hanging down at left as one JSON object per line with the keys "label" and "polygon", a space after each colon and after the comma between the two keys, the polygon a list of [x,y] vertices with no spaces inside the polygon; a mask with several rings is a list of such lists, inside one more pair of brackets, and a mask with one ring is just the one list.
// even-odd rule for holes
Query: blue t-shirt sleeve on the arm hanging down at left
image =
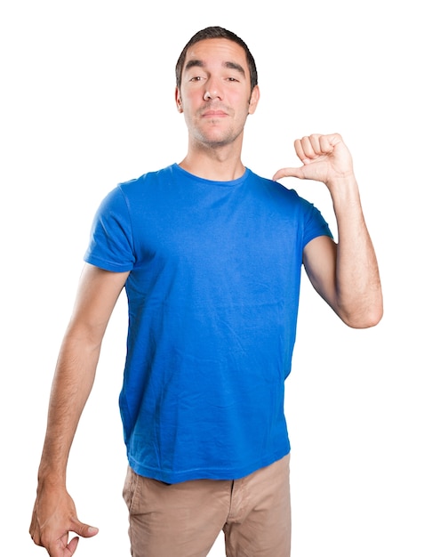
{"label": "blue t-shirt sleeve on the arm hanging down at left", "polygon": [[133,268],[135,254],[131,218],[119,187],[108,193],[94,216],[84,261],[115,272]]}

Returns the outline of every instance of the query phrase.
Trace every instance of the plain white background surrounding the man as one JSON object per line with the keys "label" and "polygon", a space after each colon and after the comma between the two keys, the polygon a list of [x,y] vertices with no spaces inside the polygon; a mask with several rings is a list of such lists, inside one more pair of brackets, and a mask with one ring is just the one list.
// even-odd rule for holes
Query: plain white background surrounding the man
{"label": "plain white background surrounding the man", "polygon": [[[271,177],[297,165],[296,137],[341,133],[385,295],[380,325],[357,331],[303,283],[286,385],[292,557],[432,555],[426,5],[2,3],[2,554],[44,554],[28,525],[52,372],[92,215],[117,182],[185,155],[174,65],[196,30],[221,25],[244,38],[259,69],[244,164]],[[334,229],[324,186],[291,181]],[[70,457],[78,515],[100,528],[81,540],[81,557],[129,554],[117,410],[125,327],[122,297]],[[212,556],[222,554],[218,540]]]}

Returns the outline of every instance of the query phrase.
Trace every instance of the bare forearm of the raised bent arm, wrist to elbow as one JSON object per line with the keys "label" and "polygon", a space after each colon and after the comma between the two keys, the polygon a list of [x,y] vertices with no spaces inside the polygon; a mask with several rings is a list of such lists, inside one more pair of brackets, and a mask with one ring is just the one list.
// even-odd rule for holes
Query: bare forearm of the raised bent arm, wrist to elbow
{"label": "bare forearm of the raised bent arm, wrist to elbow", "polygon": [[350,327],[371,327],[382,315],[380,273],[354,176],[329,187],[338,223],[336,290]]}

